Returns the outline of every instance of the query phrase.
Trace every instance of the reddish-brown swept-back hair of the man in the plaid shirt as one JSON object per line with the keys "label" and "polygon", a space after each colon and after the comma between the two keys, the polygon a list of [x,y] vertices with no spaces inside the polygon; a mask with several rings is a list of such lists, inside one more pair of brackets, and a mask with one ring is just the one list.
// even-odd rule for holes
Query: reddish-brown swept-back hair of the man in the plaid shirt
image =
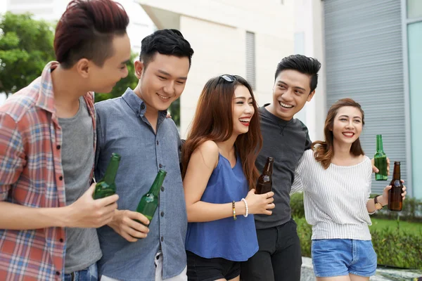
{"label": "reddish-brown swept-back hair of the man in the plaid shirt", "polygon": [[129,17],[112,0],[73,0],[56,27],[56,60],[70,68],[81,58],[102,67],[113,55],[113,37],[126,34]]}

